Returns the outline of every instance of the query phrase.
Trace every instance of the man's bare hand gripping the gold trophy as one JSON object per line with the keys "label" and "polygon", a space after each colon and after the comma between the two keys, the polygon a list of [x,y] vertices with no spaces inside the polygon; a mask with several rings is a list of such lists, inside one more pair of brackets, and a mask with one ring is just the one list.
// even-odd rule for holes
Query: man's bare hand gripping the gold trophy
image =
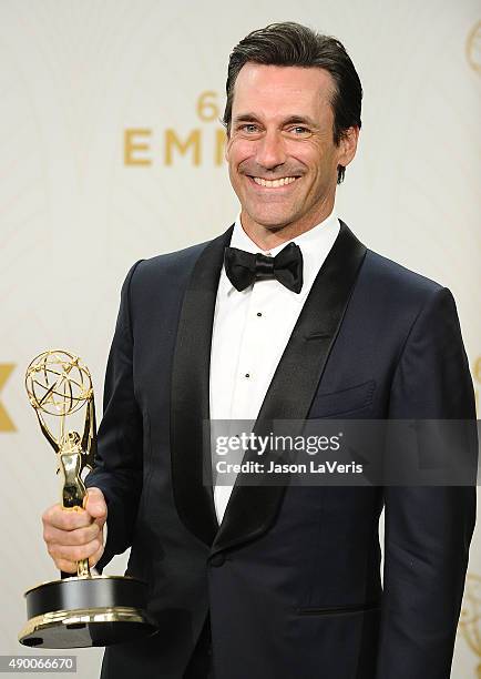
{"label": "man's bare hand gripping the gold trophy", "polygon": [[100,488],[89,488],[84,509],[65,511],[53,505],[43,513],[43,539],[59,570],[76,574],[76,561],[95,566],[103,554],[106,504]]}

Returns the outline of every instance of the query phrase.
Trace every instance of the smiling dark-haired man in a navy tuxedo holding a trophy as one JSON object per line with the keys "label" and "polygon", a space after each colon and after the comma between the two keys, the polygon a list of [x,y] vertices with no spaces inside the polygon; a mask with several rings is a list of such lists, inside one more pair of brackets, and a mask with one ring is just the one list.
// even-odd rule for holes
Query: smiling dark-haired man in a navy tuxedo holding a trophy
{"label": "smiling dark-haired man in a navy tuxedo holding a trophy", "polygon": [[226,90],[239,216],[129,273],[86,508],[45,511],[49,553],[75,572],[131,546],[149,582],[160,632],[104,679],[447,679],[473,488],[226,486],[205,458],[208,418],[474,418],[451,293],[336,215],[362,95],[341,43],[254,31]]}

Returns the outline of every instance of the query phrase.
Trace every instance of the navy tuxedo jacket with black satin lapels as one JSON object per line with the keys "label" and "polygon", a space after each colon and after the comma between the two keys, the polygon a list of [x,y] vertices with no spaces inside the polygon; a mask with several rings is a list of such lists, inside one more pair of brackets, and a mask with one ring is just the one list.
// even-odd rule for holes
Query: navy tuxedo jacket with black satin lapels
{"label": "navy tuxedo jacket with black satin lapels", "polygon": [[[446,679],[474,488],[236,485],[217,525],[203,420],[231,235],[142,261],[123,286],[88,486],[109,506],[99,568],[132,547],[160,632],[106,649],[102,677],[181,679],[209,614],[216,679]],[[306,417],[475,417],[451,293],[344,223],[257,424]]]}

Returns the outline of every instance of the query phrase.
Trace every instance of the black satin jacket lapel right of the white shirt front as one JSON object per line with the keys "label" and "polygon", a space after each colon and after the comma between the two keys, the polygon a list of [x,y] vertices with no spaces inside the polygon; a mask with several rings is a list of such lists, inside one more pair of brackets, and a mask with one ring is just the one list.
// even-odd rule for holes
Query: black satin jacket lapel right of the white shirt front
{"label": "black satin jacket lapel right of the white shirt front", "polygon": [[[309,412],[366,255],[366,247],[340,224],[267,391],[254,426],[257,434],[267,434],[274,419],[305,419]],[[279,510],[285,486],[243,486],[237,477],[213,553],[258,538]]]}

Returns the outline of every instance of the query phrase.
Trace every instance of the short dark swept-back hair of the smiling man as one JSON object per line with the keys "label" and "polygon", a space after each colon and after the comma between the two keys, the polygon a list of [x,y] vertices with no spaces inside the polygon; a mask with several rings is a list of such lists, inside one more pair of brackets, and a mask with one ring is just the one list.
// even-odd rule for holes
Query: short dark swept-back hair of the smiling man
{"label": "short dark swept-back hair of the smiling man", "polygon": [[[231,131],[235,81],[247,62],[325,69],[330,73],[335,85],[331,100],[335,144],[339,144],[349,128],[361,126],[362,87],[341,42],[300,23],[286,21],[270,23],[266,28],[253,31],[232,51],[225,85],[227,102],[223,119],[227,132]],[[338,184],[344,180],[345,172],[346,168],[338,165]]]}

